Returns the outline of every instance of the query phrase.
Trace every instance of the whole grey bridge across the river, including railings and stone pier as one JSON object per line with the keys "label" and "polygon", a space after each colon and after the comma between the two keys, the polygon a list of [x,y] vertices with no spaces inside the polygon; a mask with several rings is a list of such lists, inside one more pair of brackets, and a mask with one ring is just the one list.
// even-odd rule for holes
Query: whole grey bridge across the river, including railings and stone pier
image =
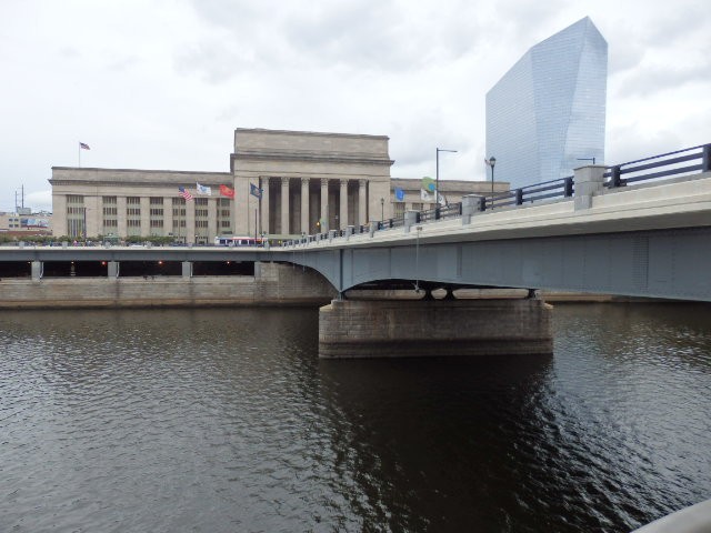
{"label": "whole grey bridge across the river, including railings and stone pier", "polygon": [[[549,306],[457,300],[460,288],[520,288],[711,301],[711,144],[614,167],[368,228],[302,235],[280,247],[16,247],[0,262],[196,264],[282,262],[312,269],[339,294],[321,310],[323,356],[550,352]],[[422,300],[343,299],[362,288],[411,289]],[[447,296],[433,300],[434,289]]]}

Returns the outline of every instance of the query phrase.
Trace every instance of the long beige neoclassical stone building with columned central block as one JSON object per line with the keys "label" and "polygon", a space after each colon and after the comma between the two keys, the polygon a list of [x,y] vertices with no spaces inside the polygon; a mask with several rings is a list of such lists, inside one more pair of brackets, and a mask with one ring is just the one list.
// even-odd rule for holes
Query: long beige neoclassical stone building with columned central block
{"label": "long beige neoclassical stone building with columned central block", "polygon": [[[433,207],[419,180],[391,180],[392,163],[383,135],[238,129],[230,172],[53,167],[53,233],[280,239]],[[449,201],[488,187],[441,182]]]}

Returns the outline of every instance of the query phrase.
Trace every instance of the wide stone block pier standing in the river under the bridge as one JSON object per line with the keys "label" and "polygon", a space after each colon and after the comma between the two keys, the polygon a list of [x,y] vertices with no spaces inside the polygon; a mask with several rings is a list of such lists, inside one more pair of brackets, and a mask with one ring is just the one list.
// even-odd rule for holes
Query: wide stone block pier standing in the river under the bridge
{"label": "wide stone block pier standing in the river under the bridge", "polygon": [[550,354],[541,300],[334,300],[319,311],[321,359]]}

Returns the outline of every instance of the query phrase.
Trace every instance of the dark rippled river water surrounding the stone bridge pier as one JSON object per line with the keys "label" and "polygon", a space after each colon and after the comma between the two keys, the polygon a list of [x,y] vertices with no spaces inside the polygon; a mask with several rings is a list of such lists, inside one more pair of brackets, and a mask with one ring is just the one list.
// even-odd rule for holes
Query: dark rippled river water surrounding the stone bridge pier
{"label": "dark rippled river water surrounding the stone bridge pier", "polygon": [[316,310],[2,312],[0,531],[630,531],[711,497],[710,311],[368,361]]}

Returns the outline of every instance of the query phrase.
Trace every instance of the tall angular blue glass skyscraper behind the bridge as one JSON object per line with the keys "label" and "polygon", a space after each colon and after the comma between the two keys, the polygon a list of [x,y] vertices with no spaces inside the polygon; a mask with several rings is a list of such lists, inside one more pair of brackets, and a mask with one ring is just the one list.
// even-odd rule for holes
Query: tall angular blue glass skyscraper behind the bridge
{"label": "tall angular blue glass skyscraper behind the bridge", "polygon": [[608,43],[590,18],[532,47],[487,93],[487,159],[511,189],[604,161]]}

